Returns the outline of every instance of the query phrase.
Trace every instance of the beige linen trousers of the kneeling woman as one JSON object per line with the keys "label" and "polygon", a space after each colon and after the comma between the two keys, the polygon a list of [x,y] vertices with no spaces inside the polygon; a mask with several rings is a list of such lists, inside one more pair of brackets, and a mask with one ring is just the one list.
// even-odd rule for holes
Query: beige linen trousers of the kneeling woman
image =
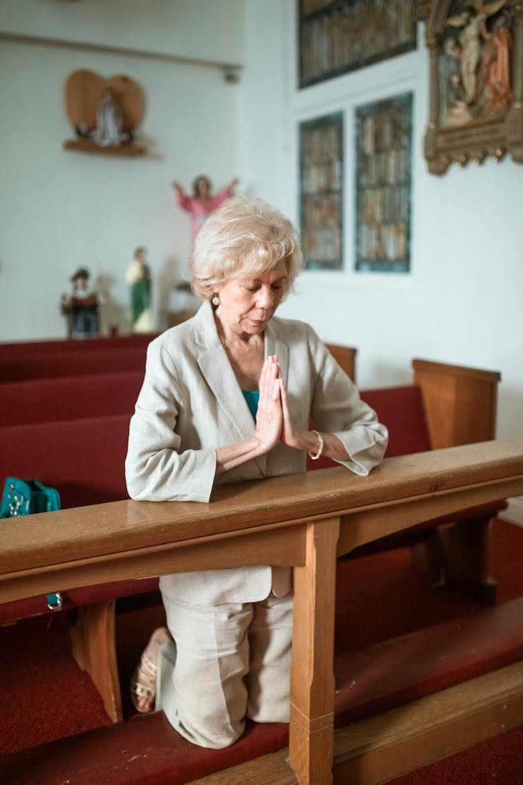
{"label": "beige linen trousers of the kneeling woman", "polygon": [[156,709],[182,736],[220,749],[245,717],[289,722],[292,593],[193,605],[163,595],[173,636],[160,649]]}

